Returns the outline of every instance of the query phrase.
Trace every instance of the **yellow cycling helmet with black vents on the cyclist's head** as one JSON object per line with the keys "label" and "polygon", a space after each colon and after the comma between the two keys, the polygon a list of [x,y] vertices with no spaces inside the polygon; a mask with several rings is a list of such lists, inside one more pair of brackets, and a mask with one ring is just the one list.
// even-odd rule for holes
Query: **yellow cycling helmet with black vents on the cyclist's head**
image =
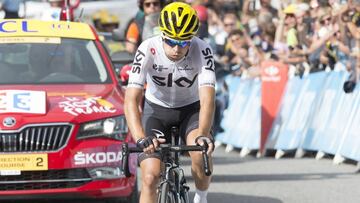
{"label": "yellow cycling helmet with black vents on the cyclist's head", "polygon": [[159,27],[171,39],[190,40],[199,29],[199,18],[190,5],[173,2],[161,10]]}

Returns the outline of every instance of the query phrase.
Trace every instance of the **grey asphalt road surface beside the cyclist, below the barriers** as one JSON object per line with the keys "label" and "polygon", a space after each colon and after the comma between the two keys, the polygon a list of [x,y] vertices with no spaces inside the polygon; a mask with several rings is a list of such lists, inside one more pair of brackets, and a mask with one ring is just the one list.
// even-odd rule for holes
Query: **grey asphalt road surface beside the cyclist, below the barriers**
{"label": "grey asphalt road surface beside the cyclist, below the barriers", "polygon": [[[274,157],[256,158],[251,155],[240,158],[239,154],[239,151],[225,153],[224,147],[215,150],[209,203],[360,202],[360,174],[356,173],[354,164],[334,165],[330,158],[287,157],[277,160]],[[183,158],[182,163],[193,191],[189,158]]]}

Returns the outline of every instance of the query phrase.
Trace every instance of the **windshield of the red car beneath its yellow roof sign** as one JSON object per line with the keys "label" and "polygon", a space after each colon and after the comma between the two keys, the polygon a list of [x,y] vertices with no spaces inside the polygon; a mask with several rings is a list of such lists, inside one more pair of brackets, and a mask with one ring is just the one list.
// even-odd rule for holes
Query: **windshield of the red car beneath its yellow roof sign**
{"label": "windshield of the red car beneath its yellow roof sign", "polygon": [[109,82],[107,69],[91,40],[24,38],[0,43],[0,84]]}

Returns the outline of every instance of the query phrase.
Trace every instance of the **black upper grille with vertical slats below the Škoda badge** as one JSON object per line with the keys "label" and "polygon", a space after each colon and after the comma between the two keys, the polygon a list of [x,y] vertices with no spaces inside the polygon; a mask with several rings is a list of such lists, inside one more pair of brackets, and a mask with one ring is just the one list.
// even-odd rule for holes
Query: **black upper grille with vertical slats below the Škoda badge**
{"label": "black upper grille with vertical slats below the \u0160koda badge", "polygon": [[26,126],[20,131],[0,131],[0,152],[57,151],[65,146],[70,124]]}

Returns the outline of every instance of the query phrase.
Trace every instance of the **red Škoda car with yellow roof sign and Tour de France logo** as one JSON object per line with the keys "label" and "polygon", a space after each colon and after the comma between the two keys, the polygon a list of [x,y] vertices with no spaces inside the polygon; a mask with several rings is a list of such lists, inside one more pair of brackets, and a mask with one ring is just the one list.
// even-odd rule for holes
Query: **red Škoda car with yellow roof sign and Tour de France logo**
{"label": "red \u0160koda car with yellow roof sign and Tour de France logo", "polygon": [[[121,143],[133,142],[124,92],[94,29],[84,23],[0,21],[0,201],[127,198]],[[130,171],[136,173],[136,157]]]}

